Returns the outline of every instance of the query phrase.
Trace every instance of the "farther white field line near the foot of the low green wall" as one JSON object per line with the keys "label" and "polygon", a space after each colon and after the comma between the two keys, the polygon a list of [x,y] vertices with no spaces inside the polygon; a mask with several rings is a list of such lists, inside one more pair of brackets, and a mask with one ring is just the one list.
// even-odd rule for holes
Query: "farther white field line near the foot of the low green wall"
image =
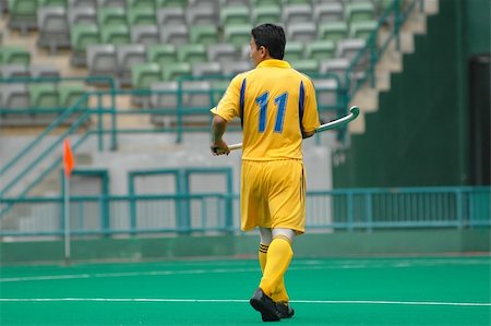
{"label": "farther white field line near the foot of the low green wall", "polygon": [[[363,268],[409,268],[421,266],[440,265],[490,265],[486,259],[430,259],[411,261],[395,259],[393,262],[373,262],[373,261],[346,261],[344,264],[330,264],[325,261],[300,261],[292,265],[288,270],[327,270],[327,269],[363,269]],[[165,267],[163,267],[165,268]],[[84,278],[117,278],[117,277],[140,277],[140,276],[172,276],[172,275],[200,275],[200,274],[228,274],[228,273],[250,273],[258,271],[256,267],[242,268],[199,268],[183,270],[151,270],[151,271],[121,271],[121,273],[94,273],[94,274],[62,274],[45,276],[24,276],[24,277],[3,277],[1,282],[22,282],[38,280],[63,280],[63,279],[84,279]]]}

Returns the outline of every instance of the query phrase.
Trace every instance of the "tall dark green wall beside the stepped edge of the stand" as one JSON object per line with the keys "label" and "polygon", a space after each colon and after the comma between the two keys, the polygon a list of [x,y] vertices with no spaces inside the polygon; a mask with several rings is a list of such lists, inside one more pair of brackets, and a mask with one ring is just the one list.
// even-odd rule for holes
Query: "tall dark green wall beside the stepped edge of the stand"
{"label": "tall dark green wall beside the stepped edge of the stand", "polygon": [[440,1],[428,34],[366,116],[366,133],[334,153],[335,188],[469,184],[467,59],[488,48],[489,0]]}

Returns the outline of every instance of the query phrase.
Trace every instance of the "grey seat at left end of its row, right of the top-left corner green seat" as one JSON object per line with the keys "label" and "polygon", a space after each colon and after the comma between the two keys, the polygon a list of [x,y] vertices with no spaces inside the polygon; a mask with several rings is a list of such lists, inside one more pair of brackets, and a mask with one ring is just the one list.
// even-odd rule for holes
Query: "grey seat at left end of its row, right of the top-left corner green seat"
{"label": "grey seat at left end of its row, right of the top-left corner green seat", "polygon": [[51,53],[56,53],[58,48],[70,46],[70,28],[64,8],[40,7],[37,10],[37,46],[48,47]]}

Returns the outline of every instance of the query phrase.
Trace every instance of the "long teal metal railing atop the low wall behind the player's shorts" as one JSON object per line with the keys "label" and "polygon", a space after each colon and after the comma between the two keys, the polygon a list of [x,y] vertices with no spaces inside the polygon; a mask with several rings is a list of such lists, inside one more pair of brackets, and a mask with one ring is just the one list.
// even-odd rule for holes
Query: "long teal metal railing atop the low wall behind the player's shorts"
{"label": "long teal metal railing atop the low wall behind the player's shorts", "polygon": [[[374,230],[491,227],[491,188],[407,188],[316,191],[307,194],[307,228]],[[177,205],[189,203],[189,222]],[[227,204],[232,201],[232,208]],[[63,198],[3,198],[13,208],[0,237],[62,237]],[[131,207],[134,207],[132,209]],[[135,216],[132,217],[132,212]],[[238,231],[237,194],[76,196],[71,198],[75,236]],[[134,219],[134,220],[133,220]]]}

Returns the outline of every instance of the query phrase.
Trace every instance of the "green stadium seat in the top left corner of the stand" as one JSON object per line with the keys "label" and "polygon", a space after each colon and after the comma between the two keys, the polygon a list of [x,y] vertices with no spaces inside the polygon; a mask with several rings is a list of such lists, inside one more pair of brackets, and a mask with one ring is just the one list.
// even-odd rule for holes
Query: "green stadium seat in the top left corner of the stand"
{"label": "green stadium seat in the top left corner of the stand", "polygon": [[27,31],[37,28],[37,0],[9,0],[9,28]]}

